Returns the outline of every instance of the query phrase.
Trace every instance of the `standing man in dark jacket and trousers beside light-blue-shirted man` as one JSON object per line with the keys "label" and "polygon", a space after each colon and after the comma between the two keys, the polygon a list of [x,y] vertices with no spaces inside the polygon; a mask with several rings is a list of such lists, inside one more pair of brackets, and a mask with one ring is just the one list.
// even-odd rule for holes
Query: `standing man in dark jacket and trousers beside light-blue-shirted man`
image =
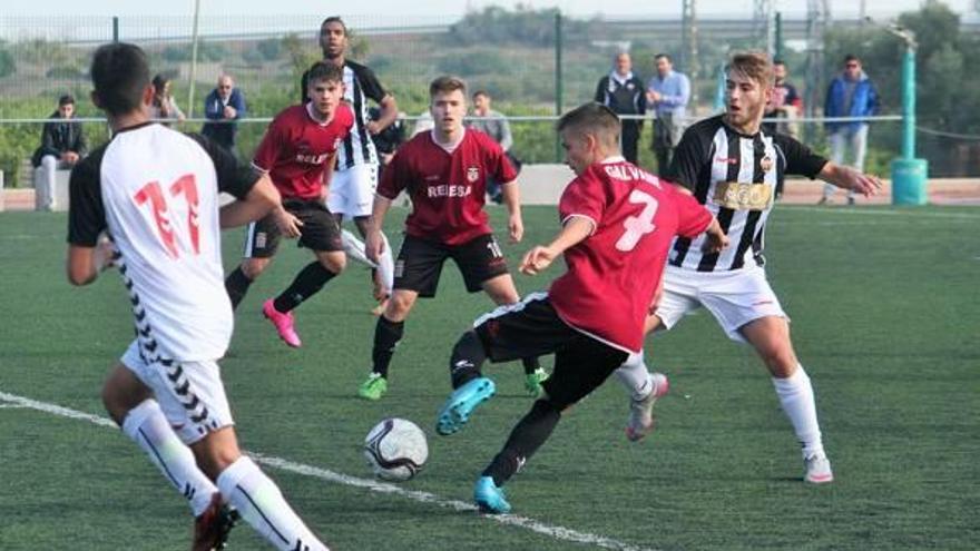
{"label": "standing man in dark jacket and trousers beside light-blue-shirted man", "polygon": [[[643,81],[633,73],[633,59],[629,53],[619,52],[609,75],[599,79],[596,87],[596,101],[612,109],[616,115],[646,115],[647,97]],[[643,120],[621,119],[623,130],[619,142],[626,160],[637,164],[636,144],[643,130]]]}

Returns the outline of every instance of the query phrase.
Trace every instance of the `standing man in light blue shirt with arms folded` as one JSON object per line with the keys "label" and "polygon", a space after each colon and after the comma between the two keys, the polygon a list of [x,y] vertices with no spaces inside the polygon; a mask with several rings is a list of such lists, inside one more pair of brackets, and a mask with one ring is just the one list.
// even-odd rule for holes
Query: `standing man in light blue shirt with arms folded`
{"label": "standing man in light blue shirt with arms folded", "polygon": [[684,135],[687,102],[690,101],[690,80],[674,70],[670,56],[657,53],[654,58],[657,75],[647,85],[647,104],[656,109],[653,149],[657,156],[657,171],[663,174],[674,158],[674,148]]}

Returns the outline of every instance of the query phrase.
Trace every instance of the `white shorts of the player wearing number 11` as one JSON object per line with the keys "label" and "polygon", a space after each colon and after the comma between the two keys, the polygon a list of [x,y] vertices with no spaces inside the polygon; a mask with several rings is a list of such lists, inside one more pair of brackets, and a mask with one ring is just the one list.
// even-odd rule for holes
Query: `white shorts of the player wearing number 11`
{"label": "white shorts of the player wearing number 11", "polygon": [[217,362],[161,360],[148,364],[140,357],[136,341],[120,361],[154,392],[167,422],[185,444],[235,424]]}

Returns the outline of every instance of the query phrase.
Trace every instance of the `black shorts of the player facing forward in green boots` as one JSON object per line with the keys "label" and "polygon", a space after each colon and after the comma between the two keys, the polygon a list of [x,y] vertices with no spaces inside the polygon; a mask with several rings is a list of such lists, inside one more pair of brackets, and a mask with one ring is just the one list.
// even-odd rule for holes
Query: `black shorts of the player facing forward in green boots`
{"label": "black shorts of the player facing forward in green boots", "polygon": [[435,296],[439,276],[447,258],[452,258],[463,275],[467,291],[482,289],[482,283],[507,274],[507,260],[493,234],[486,234],[461,245],[444,245],[405,236],[394,263],[394,288],[415,291],[419,296]]}

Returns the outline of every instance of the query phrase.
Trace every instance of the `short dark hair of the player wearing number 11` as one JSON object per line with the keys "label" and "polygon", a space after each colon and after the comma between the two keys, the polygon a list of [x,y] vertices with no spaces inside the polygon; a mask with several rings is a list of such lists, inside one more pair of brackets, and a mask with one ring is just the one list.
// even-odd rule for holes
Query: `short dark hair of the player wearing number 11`
{"label": "short dark hair of the player wearing number 11", "polygon": [[139,107],[149,85],[146,53],[136,45],[100,46],[92,57],[92,86],[99,107],[109,115],[125,115]]}

